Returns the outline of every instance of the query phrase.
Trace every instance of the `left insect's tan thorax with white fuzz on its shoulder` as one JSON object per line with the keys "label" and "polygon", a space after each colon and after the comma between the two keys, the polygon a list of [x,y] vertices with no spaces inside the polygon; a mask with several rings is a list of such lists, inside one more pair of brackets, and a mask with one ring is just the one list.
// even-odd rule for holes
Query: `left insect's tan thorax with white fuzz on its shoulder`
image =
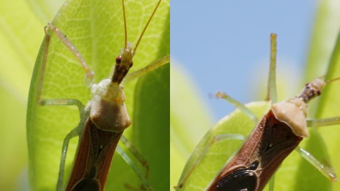
{"label": "left insect's tan thorax with white fuzz on its shoulder", "polygon": [[91,88],[90,119],[101,130],[121,132],[131,124],[123,86],[102,80]]}

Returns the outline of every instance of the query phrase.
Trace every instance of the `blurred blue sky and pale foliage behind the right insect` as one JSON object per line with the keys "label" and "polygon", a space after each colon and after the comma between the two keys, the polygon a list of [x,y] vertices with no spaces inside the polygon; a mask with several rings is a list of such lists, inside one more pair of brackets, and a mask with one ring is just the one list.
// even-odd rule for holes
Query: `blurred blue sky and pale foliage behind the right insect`
{"label": "blurred blue sky and pale foliage behind the right insect", "polygon": [[271,32],[278,100],[298,94],[327,72],[339,10],[337,0],[171,1],[172,186],[204,133],[235,109],[209,95],[223,91],[243,103],[265,98]]}

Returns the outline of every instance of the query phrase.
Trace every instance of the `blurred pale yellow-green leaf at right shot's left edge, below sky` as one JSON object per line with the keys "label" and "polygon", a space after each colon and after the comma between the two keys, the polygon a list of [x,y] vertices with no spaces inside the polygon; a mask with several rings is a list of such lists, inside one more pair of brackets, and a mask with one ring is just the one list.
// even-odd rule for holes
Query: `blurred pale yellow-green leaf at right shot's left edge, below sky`
{"label": "blurred pale yellow-green leaf at right shot's left edge, below sky", "polygon": [[[212,117],[188,75],[174,62],[171,63],[170,82],[170,190],[172,190],[177,184],[185,160],[212,125]],[[183,108],[183,105],[187,108]]]}

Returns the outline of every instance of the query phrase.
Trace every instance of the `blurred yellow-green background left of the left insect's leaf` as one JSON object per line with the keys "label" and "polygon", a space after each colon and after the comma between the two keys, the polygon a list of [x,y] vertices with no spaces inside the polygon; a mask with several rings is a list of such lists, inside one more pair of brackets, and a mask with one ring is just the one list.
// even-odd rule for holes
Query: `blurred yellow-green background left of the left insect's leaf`
{"label": "blurred yellow-green background left of the left insect's leaf", "polygon": [[65,0],[0,1],[0,190],[27,191],[27,96],[44,26]]}

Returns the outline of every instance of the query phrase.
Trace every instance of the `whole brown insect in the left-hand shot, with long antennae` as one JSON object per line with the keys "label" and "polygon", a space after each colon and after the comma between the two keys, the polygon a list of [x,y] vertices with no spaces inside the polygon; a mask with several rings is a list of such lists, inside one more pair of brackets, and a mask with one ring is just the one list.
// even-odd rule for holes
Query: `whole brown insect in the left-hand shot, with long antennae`
{"label": "whole brown insect in the left-hand shot, with long antennae", "polygon": [[[125,139],[125,137],[121,137],[124,129],[131,124],[131,120],[127,113],[127,108],[125,105],[125,94],[123,92],[122,83],[124,83],[123,79],[125,78],[129,69],[133,65],[132,58],[134,57],[135,52],[137,51],[137,47],[139,47],[140,45],[143,34],[148,28],[151,19],[153,18],[153,16],[156,13],[156,10],[161,4],[161,0],[153,2],[154,9],[151,13],[151,16],[147,23],[145,24],[145,27],[137,40],[136,46],[133,47],[131,43],[127,42],[127,28],[124,0],[120,1],[121,3],[120,5],[123,7],[122,15],[124,18],[124,31],[125,31],[124,33],[125,35],[123,35],[125,36],[124,47],[122,52],[115,59],[116,64],[114,66],[112,76],[110,76],[109,79],[100,81],[98,84],[92,83],[93,77],[95,77],[95,75],[90,70],[90,66],[88,66],[87,63],[85,62],[86,60],[85,57],[81,55],[82,49],[78,51],[76,46],[73,45],[73,43],[68,39],[65,33],[63,33],[55,25],[48,24],[48,26],[45,27],[46,33],[45,42],[42,46],[43,56],[42,60],[40,61],[42,64],[41,66],[38,66],[38,68],[35,69],[36,73],[39,74],[38,85],[33,86],[35,90],[31,90],[31,94],[34,94],[33,97],[36,98],[37,103],[40,105],[37,106],[36,109],[44,110],[46,109],[46,107],[50,107],[53,105],[55,105],[56,107],[57,106],[60,107],[60,105],[72,105],[73,108],[74,106],[78,107],[78,110],[80,112],[79,124],[75,125],[76,128],[74,128],[75,126],[73,127],[74,129],[71,132],[69,132],[69,134],[67,134],[66,138],[64,134],[65,139],[62,147],[62,156],[60,160],[57,190],[64,190],[63,180],[65,171],[64,169],[66,165],[66,153],[68,152],[68,145],[71,138],[76,136],[80,137],[78,149],[70,173],[70,178],[68,179],[65,188],[66,190],[84,190],[84,189],[98,191],[103,190],[114,151],[117,150],[120,154],[122,154],[121,149],[119,147],[116,148],[119,139],[122,140],[123,143],[125,142],[126,144],[130,145],[130,143]],[[110,1],[108,1],[108,4],[110,4]],[[52,37],[54,37],[53,40]],[[83,86],[85,88],[88,87],[91,93],[93,94],[93,97],[86,105],[83,104],[84,100],[63,97],[55,98],[54,96],[51,96],[51,94],[50,95],[46,94],[46,92],[48,92],[49,89],[48,88],[46,89],[45,87],[46,84],[43,83],[44,80],[48,78],[48,74],[45,74],[45,67],[46,69],[47,67],[49,67],[49,65],[46,65],[46,63],[49,61],[49,59],[53,58],[50,55],[58,54],[55,53],[56,52],[55,50],[51,50],[51,48],[54,48],[54,46],[51,46],[51,44],[56,42],[61,44],[64,49],[65,48],[69,49],[68,54],[76,58],[77,67],[79,67],[80,63],[80,66],[82,66],[83,68],[82,70],[85,71],[86,86],[84,85]],[[116,52],[116,54],[118,53],[119,52]],[[113,59],[111,58],[110,60],[112,62],[114,60],[114,57]],[[131,81],[169,62],[170,58],[169,56],[167,56],[145,68],[142,68],[138,71],[135,71],[134,73],[129,74],[128,76],[126,76],[126,78],[130,79]],[[73,69],[72,67],[74,66],[72,66],[71,64],[70,68],[68,67],[66,69],[72,70]],[[84,72],[82,72],[82,74],[84,74]],[[43,89],[43,87],[45,88]],[[75,88],[75,90],[77,91],[77,87]],[[57,112],[60,112],[60,110],[57,110]],[[39,121],[37,119],[35,120]],[[34,121],[32,122],[32,120],[30,120],[30,122],[28,123],[34,123]],[[28,137],[29,139],[32,140],[32,137],[30,136]],[[144,163],[143,165],[147,165],[146,161],[143,158],[141,158],[141,155],[136,151],[136,149],[134,149],[134,147],[127,146],[127,148],[130,149],[132,153],[137,156],[137,160]],[[122,158],[126,160],[129,164],[131,163],[131,161],[129,161],[129,158],[124,154],[122,154]],[[35,168],[34,165],[33,168]],[[142,183],[144,184],[143,188],[151,190],[152,188],[145,180],[144,175],[141,174],[138,170],[136,170],[136,172],[139,173],[138,176],[141,179]],[[146,171],[146,175],[147,173],[148,171]]]}

